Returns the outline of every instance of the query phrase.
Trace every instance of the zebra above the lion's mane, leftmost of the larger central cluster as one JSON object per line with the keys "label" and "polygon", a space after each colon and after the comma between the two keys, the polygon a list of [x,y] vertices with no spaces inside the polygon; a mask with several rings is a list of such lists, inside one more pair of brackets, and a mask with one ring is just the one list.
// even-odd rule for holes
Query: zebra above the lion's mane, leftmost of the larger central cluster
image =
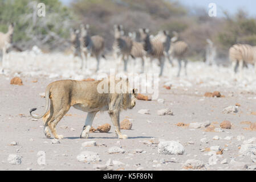
{"label": "zebra above the lion's mane, leftmost of the larger central cluster", "polygon": [[128,36],[124,36],[122,25],[115,24],[113,28],[115,36],[115,41],[113,43],[113,54],[115,58],[120,55],[122,56],[122,60],[124,61],[124,72],[127,72],[127,63],[132,52],[133,41]]}

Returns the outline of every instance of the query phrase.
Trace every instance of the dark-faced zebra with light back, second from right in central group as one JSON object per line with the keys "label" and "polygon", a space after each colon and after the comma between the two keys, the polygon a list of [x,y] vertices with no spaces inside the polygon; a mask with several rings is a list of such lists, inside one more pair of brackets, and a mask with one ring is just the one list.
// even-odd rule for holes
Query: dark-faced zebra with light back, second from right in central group
{"label": "dark-faced zebra with light back, second from right in central group", "polygon": [[160,73],[159,76],[162,76],[164,70],[164,36],[157,35],[153,38],[150,38],[149,30],[147,28],[140,28],[140,37],[143,40],[144,50],[147,52],[147,56],[150,59],[158,59],[160,63]]}

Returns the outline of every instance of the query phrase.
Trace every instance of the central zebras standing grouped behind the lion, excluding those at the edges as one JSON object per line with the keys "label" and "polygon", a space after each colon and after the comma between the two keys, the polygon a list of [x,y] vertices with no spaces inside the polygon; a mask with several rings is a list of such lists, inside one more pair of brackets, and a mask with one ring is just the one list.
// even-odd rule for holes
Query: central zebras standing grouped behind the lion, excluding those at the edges
{"label": "central zebras standing grouped behind the lion, excluding those at the edges", "polygon": [[[86,26],[81,25],[80,30],[71,31],[71,43],[74,55],[81,55],[82,66],[87,64],[87,54],[93,55],[97,60],[96,71],[99,70],[100,57],[104,56],[104,39],[101,36],[90,36],[88,24]],[[152,36],[147,28],[140,28],[139,32],[129,32],[128,36],[124,35],[124,28],[121,24],[113,26],[114,29],[114,42],[113,42],[113,57],[121,56],[121,60],[124,63],[124,72],[127,72],[127,64],[129,57],[132,59],[141,59],[141,72],[144,72],[145,57],[149,57],[151,60],[159,60],[160,73],[164,69],[165,57],[168,58],[170,64],[173,65],[173,59],[178,60],[178,73],[180,76],[181,71],[181,61],[184,60],[184,68],[186,74],[186,64],[188,60],[186,59],[186,53],[188,52],[188,44],[183,41],[178,40],[177,32],[174,32],[174,37],[170,38],[168,31],[159,31],[156,36]],[[137,36],[138,35],[138,36]],[[105,57],[105,56],[104,56]]]}

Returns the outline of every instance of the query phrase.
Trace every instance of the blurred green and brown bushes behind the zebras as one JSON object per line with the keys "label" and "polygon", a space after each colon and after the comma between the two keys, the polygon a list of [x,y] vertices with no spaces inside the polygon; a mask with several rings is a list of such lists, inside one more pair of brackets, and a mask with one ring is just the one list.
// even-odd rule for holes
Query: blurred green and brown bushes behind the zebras
{"label": "blurred green and brown bushes behind the zebras", "polygon": [[218,59],[227,59],[235,43],[256,46],[256,20],[245,11],[233,16],[211,18],[204,9],[192,10],[177,1],[165,0],[75,0],[64,6],[59,0],[40,0],[46,5],[46,17],[38,17],[39,1],[0,0],[0,31],[15,23],[14,42],[23,49],[36,45],[43,50],[63,51],[70,46],[70,28],[90,24],[91,35],[101,35],[111,51],[113,25],[123,24],[125,34],[145,27],[153,35],[159,30],[180,34],[189,44],[190,58],[204,60],[206,39],[217,47]]}

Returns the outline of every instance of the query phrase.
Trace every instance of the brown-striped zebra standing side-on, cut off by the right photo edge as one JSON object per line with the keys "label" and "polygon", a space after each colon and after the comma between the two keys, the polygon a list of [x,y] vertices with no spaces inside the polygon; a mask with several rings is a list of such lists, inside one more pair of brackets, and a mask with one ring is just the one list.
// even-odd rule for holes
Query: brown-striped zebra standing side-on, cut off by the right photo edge
{"label": "brown-striped zebra standing side-on, cut off by the right photo edge", "polygon": [[242,74],[242,68],[246,64],[254,64],[256,71],[256,46],[250,46],[249,44],[235,44],[229,49],[229,60],[231,61],[234,73],[237,73],[239,66],[239,72]]}

